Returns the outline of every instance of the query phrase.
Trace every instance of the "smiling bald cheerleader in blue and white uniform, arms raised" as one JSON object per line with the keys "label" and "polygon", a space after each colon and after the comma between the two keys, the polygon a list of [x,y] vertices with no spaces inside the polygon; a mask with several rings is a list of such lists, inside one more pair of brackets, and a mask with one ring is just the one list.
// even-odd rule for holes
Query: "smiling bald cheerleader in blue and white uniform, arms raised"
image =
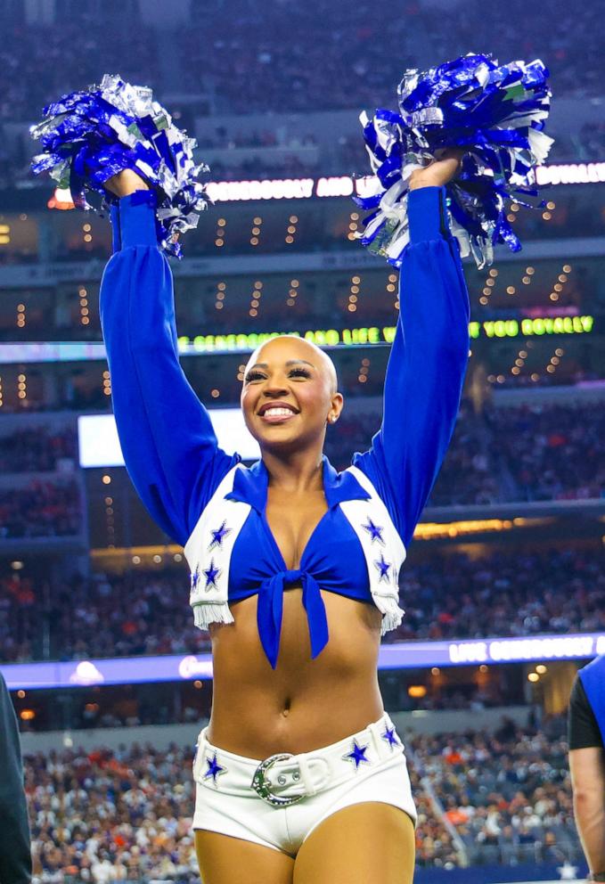
{"label": "smiling bald cheerleader in blue and white uniform, arms raised", "polygon": [[343,407],[334,366],[292,336],[258,348],[244,374],[260,461],[245,468],[217,446],[178,360],[156,193],[130,170],[106,183],[119,198],[101,287],[119,438],[143,503],[184,546],[212,641],[212,714],[193,763],[204,884],[412,881],[416,810],[377,664],[467,364],[445,209],[459,157],[413,173],[382,425],[340,473],[323,455]]}

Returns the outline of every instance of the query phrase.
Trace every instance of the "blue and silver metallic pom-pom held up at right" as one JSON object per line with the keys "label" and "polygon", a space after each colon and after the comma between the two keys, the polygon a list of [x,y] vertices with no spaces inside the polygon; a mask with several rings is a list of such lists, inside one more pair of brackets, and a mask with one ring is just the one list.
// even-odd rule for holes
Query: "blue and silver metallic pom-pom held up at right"
{"label": "blue and silver metallic pom-pom held up at right", "polygon": [[462,55],[424,72],[407,70],[398,87],[399,112],[362,113],[364,140],[376,176],[376,192],[356,197],[364,219],[362,242],[401,266],[409,241],[408,182],[447,147],[464,147],[458,175],[446,185],[452,233],[462,257],[491,264],[494,246],[520,242],[506,218],[505,201],[530,208],[536,198],[534,168],[544,162],[553,139],[544,134],[551,92],[539,59],[498,66],[490,55]]}

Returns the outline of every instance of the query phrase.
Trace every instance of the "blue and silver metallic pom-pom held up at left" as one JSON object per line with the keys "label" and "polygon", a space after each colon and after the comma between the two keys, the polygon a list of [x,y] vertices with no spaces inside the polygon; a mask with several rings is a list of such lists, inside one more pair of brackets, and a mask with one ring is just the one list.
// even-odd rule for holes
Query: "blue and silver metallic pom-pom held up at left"
{"label": "blue and silver metallic pom-pom held up at left", "polygon": [[115,198],[104,182],[133,169],[158,192],[159,247],[181,258],[177,234],[197,226],[208,205],[204,185],[196,180],[208,167],[193,161],[195,140],[173,126],[151,89],[106,74],[101,86],[63,95],[44,114],[30,129],[44,147],[32,160],[33,172],[48,171],[59,187],[69,187],[78,209],[94,209],[86,191],[102,193],[107,209]]}

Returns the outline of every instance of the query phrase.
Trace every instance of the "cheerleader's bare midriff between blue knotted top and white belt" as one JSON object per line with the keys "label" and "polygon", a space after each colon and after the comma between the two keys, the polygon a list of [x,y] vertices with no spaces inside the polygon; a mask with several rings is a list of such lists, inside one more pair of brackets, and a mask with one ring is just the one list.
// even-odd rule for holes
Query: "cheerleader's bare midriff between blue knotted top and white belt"
{"label": "cheerleader's bare midriff between blue knotted top and white belt", "polygon": [[258,595],[232,603],[234,623],[210,626],[214,692],[208,740],[217,748],[256,759],[309,752],[380,718],[380,611],[336,593],[322,591],[322,598],[330,639],[315,659],[297,586],[283,593],[275,669],[258,637]]}

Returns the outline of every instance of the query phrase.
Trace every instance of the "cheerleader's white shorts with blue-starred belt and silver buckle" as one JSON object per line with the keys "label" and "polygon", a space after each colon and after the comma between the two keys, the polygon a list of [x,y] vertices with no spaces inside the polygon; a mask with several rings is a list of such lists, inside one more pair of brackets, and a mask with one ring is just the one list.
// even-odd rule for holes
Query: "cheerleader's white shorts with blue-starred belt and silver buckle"
{"label": "cheerleader's white shorts with blue-starred belt and silver buckle", "polygon": [[212,746],[205,727],[193,761],[192,829],[295,855],[315,827],[362,801],[401,807],[416,825],[404,745],[387,713],[344,740],[261,762]]}

